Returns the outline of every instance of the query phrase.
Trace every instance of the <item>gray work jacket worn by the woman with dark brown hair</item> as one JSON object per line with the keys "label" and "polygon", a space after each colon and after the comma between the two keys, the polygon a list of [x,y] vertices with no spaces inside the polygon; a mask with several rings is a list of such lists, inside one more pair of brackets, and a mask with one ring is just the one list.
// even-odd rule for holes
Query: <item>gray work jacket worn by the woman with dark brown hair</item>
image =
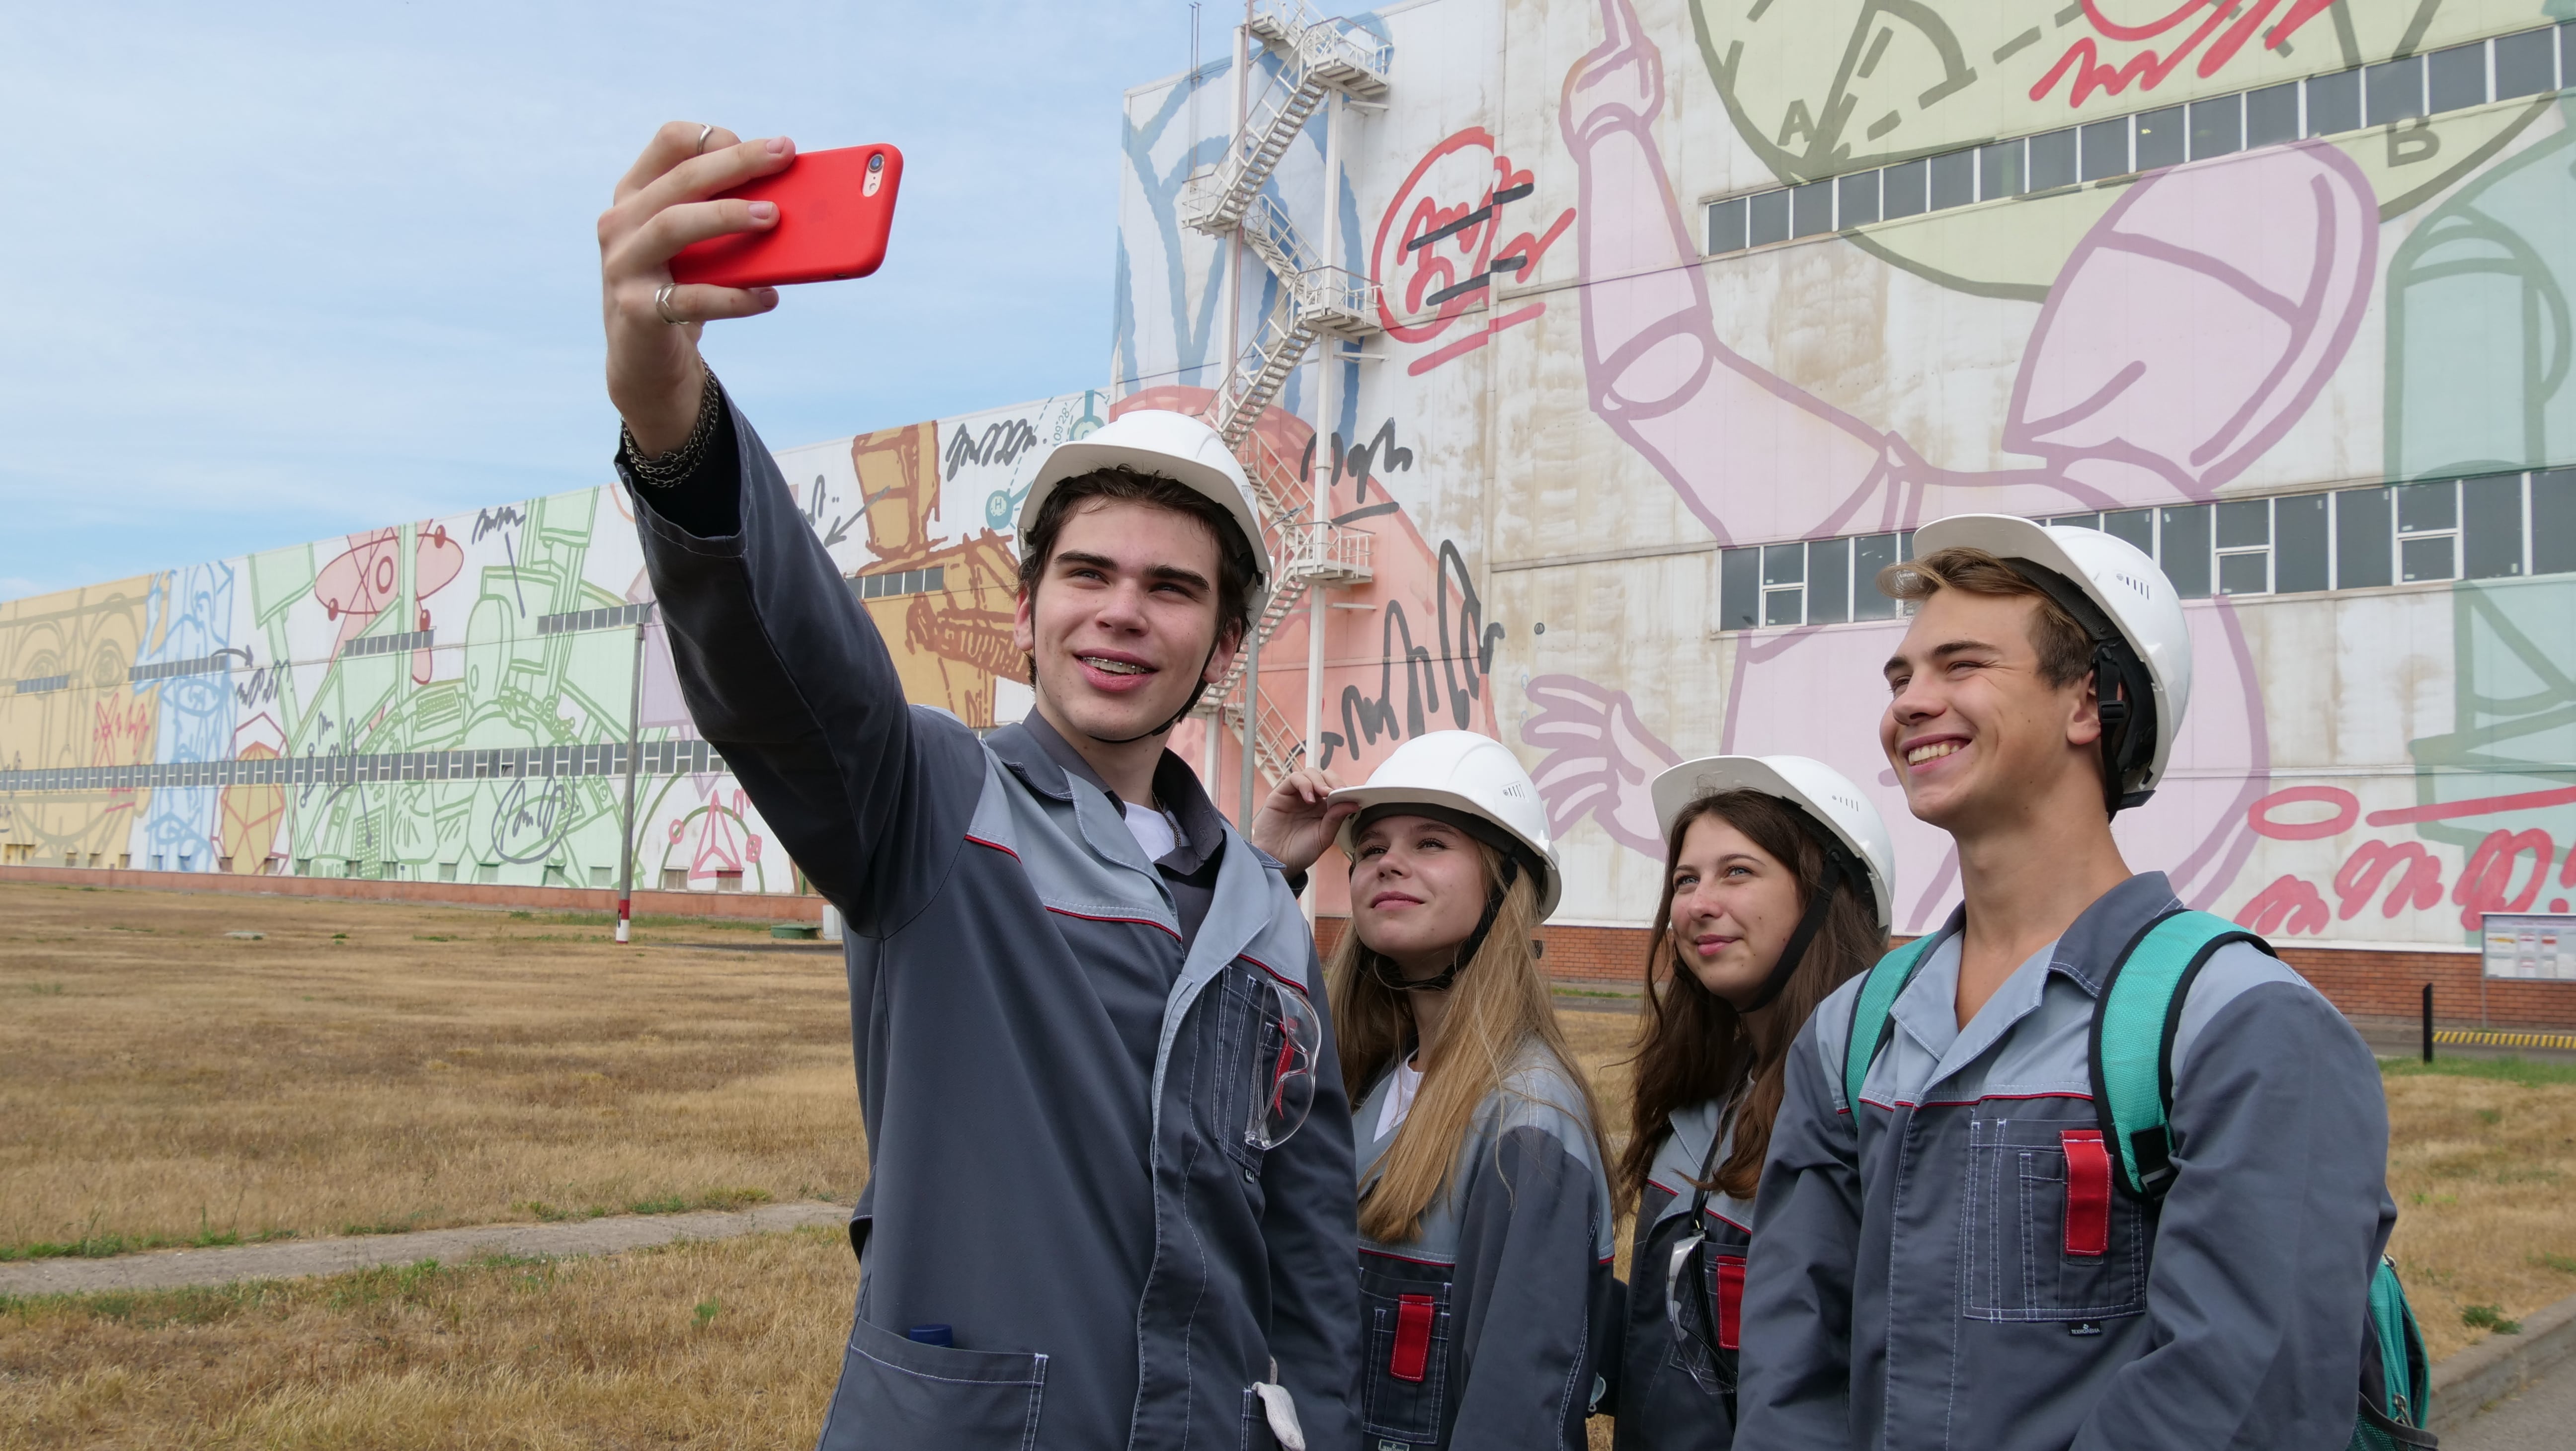
{"label": "gray work jacket worn by the woman with dark brown hair", "polygon": [[[1744,1302],[1744,1250],[1754,1206],[1708,1191],[1703,1247],[1680,1278],[1672,1250],[1690,1235],[1692,1180],[1734,1152],[1723,1100],[1674,1108],[1656,1139],[1628,1253],[1628,1320],[1620,1338],[1615,1446],[1620,1451],[1726,1451],[1736,1441],[1736,1361]],[[1718,1134],[1726,1124],[1723,1137]],[[1710,1155],[1710,1139],[1721,1139]],[[1698,1276],[1698,1283],[1690,1283]],[[1685,1294],[1669,1294],[1669,1291]],[[1698,1289],[1698,1294],[1687,1294]],[[1677,1302],[1677,1304],[1674,1304]],[[1708,1312],[1716,1312],[1710,1320]],[[1682,1317],[1674,1325],[1674,1314]]]}

